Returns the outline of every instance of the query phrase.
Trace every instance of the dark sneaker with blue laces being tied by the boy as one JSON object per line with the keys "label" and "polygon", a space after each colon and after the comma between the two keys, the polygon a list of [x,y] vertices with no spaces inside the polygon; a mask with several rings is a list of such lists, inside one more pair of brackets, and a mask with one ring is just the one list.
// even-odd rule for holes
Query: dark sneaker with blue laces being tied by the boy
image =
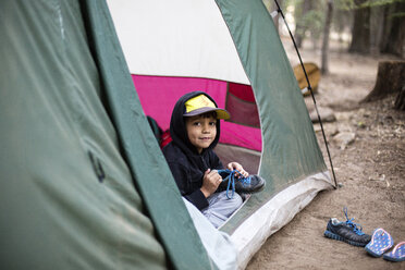
{"label": "dark sneaker with blue laces being tied by the boy", "polygon": [[[218,170],[218,173],[222,176],[223,181],[221,185],[226,185],[226,197],[232,198],[235,192],[251,194],[260,192],[265,188],[266,181],[259,175],[249,175],[244,177],[237,170]],[[235,176],[235,173],[238,173]],[[229,196],[229,192],[232,189],[232,195]]]}

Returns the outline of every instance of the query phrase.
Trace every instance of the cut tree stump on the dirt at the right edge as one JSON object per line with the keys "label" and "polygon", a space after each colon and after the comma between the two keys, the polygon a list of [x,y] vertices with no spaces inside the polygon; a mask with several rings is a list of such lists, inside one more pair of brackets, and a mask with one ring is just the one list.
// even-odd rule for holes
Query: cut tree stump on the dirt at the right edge
{"label": "cut tree stump on the dirt at the right edge", "polygon": [[375,88],[361,102],[382,99],[405,85],[405,61],[380,61]]}

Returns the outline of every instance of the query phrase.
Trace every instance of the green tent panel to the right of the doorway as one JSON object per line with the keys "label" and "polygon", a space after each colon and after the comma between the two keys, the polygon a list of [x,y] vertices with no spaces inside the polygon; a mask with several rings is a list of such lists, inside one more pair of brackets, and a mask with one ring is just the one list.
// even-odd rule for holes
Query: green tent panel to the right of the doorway
{"label": "green tent panel to the right of the doorway", "polygon": [[[217,0],[250,81],[259,109],[263,150],[259,174],[265,192],[221,230],[232,233],[277,193],[327,171],[311,121],[270,14],[261,0]],[[270,98],[269,98],[270,97]]]}

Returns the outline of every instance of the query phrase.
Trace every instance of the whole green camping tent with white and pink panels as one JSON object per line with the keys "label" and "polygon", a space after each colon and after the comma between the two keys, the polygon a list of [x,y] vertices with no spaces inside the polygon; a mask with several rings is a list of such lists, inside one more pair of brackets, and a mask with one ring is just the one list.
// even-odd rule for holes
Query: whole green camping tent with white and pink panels
{"label": "whole green camping tent with white and pink panels", "polygon": [[[240,268],[319,191],[332,186],[294,74],[260,1],[173,1],[172,10],[164,1],[145,2],[1,2],[2,269],[222,268],[196,229],[198,213],[181,198],[149,128],[143,79],[191,78],[193,84],[201,81],[230,89],[234,84],[235,89],[226,91],[234,95],[251,88],[254,96],[236,97],[250,101],[254,97],[250,103],[257,105],[260,128],[229,124],[245,134],[242,138],[258,132],[259,148],[221,142],[224,152],[229,145],[248,148],[253,155],[259,151],[257,171],[268,183],[221,228],[238,251]],[[131,13],[123,21],[139,16],[145,21],[130,23],[130,29],[121,27],[116,12],[125,10]],[[186,14],[186,22],[204,15],[200,30],[208,25],[220,28],[219,36],[212,28],[188,30],[204,34],[206,44],[199,49],[221,50],[217,54],[197,50],[197,62],[192,63],[197,73],[180,64],[175,66],[189,74],[151,72],[148,66],[168,68],[152,45],[170,49],[173,36],[165,30],[155,35],[157,29],[148,28],[152,24],[146,20],[169,15],[169,21],[155,21],[159,28],[185,20],[180,13]],[[181,25],[187,25],[184,22]],[[128,50],[125,30],[138,40],[136,51]],[[174,28],[173,35],[186,33]],[[140,42],[145,35],[156,40]],[[222,36],[226,44],[217,42]],[[185,47],[171,49],[185,52]],[[132,58],[131,51],[140,53]],[[171,53],[167,56],[179,59]],[[211,56],[222,66],[210,63]],[[145,72],[133,70],[134,63]],[[219,71],[222,74],[217,75]]]}

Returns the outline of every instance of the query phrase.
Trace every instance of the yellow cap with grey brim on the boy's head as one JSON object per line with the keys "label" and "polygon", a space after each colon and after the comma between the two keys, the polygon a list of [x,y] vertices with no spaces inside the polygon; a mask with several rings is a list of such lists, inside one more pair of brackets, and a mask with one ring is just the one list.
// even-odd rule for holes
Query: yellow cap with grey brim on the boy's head
{"label": "yellow cap with grey brim on the boy's head", "polygon": [[188,99],[184,105],[186,107],[186,112],[183,114],[183,116],[195,116],[209,111],[216,111],[217,119],[231,118],[226,110],[217,108],[216,105],[202,94]]}

